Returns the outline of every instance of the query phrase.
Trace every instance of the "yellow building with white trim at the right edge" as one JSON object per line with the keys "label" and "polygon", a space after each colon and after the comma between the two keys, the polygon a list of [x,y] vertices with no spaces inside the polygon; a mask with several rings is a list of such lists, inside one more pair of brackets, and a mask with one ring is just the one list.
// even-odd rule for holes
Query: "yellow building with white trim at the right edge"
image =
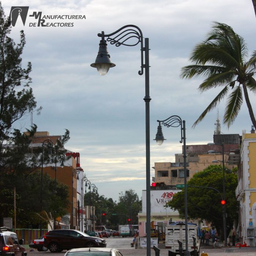
{"label": "yellow building with white trim at the right edge", "polygon": [[256,246],[256,133],[254,129],[251,132],[242,135],[240,152],[231,152],[229,162],[238,164],[236,198],[240,206],[237,237],[241,243]]}

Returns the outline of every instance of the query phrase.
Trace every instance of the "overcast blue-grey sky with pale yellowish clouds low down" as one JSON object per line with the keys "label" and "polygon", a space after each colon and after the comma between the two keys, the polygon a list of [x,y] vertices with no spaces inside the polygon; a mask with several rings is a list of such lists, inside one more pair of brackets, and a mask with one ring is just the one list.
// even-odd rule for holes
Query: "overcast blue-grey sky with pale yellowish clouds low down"
{"label": "overcast blue-grey sky with pale yellowish clouds low down", "polygon": [[[38,131],[62,135],[70,131],[68,150],[80,153],[81,167],[98,187],[99,195],[118,200],[120,192],[134,189],[139,197],[146,189],[144,75],[140,70],[140,45],[108,44],[111,68],[106,76],[90,67],[98,52],[98,33],[112,33],[133,24],[149,38],[151,166],[173,162],[181,153],[180,128],[163,128],[167,139],[158,146],[153,139],[157,120],[178,115],[186,121],[187,144],[212,142],[217,109],[192,129],[192,124],[217,95],[200,94],[200,79],[182,80],[180,70],[189,63],[196,43],[210,31],[212,22],[233,27],[244,37],[251,53],[256,49],[256,17],[251,0],[2,0],[5,15],[12,6],[29,6],[25,26],[18,18],[11,37],[18,42],[24,30],[23,65],[32,63],[31,87],[41,115],[28,115],[16,128],[25,131],[31,122]],[[86,19],[48,20],[73,23],[72,27],[31,27],[33,12],[42,15],[85,15]],[[256,112],[255,95],[250,94]],[[219,105],[223,120],[225,102]],[[256,113],[255,113],[256,114]],[[222,133],[251,130],[243,104],[237,120]],[[154,169],[151,169],[151,177]]]}

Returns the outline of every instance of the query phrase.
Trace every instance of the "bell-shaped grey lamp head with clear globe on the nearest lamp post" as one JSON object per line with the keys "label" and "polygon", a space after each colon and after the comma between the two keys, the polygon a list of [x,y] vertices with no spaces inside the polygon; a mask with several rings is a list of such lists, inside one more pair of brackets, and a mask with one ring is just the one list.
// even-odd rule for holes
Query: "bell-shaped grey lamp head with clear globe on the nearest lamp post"
{"label": "bell-shaped grey lamp head with clear globe on the nearest lamp post", "polygon": [[106,40],[101,39],[99,42],[99,52],[96,57],[95,63],[91,64],[91,67],[97,68],[99,74],[102,76],[106,75],[109,68],[114,67],[116,64],[110,61],[110,55],[108,53]]}

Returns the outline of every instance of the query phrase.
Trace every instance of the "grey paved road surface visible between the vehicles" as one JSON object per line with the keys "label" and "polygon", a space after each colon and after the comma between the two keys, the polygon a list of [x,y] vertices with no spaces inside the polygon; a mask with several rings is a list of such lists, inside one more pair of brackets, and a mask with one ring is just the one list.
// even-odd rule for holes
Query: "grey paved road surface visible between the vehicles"
{"label": "grey paved road surface visible between the vehicles", "polygon": [[[131,247],[132,237],[109,237],[106,238],[107,247],[119,249],[124,256],[146,256],[147,251],[145,249],[135,249]],[[165,249],[164,244],[159,244],[158,248],[160,249],[160,256],[168,256],[169,250]],[[30,251],[27,250],[28,256],[64,256],[63,252],[51,253],[47,252],[38,252],[37,250]],[[247,247],[247,248],[219,248],[214,249],[211,246],[201,247],[200,255],[202,252],[208,253],[208,256],[255,256],[256,247]],[[44,255],[42,255],[44,254]],[[151,256],[155,256],[155,251],[151,249]]]}

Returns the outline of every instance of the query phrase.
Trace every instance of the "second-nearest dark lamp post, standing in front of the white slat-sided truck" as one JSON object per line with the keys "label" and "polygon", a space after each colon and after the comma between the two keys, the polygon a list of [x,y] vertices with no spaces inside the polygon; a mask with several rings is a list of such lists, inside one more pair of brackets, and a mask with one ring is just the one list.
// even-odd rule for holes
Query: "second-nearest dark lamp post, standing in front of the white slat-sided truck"
{"label": "second-nearest dark lamp post, standing in front of the white slat-sided truck", "polygon": [[185,244],[186,249],[184,251],[184,256],[189,256],[188,251],[188,201],[187,201],[187,154],[186,154],[186,123],[185,120],[181,120],[179,116],[170,116],[163,121],[158,121],[157,134],[155,139],[158,145],[162,145],[165,138],[163,137],[161,123],[166,127],[179,127],[181,128],[181,140],[183,142],[183,158],[184,158],[184,201],[185,201]]}

